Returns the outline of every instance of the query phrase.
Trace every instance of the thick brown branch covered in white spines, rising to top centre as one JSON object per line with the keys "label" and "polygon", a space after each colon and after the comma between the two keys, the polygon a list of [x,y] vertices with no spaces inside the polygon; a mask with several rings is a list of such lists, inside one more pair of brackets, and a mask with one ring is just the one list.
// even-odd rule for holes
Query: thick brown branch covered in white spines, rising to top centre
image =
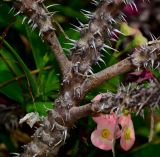
{"label": "thick brown branch covered in white spines, rising to top centre", "polygon": [[101,58],[102,51],[114,50],[105,42],[109,41],[115,32],[121,33],[115,27],[124,20],[124,15],[121,12],[123,6],[123,1],[116,3],[113,0],[106,0],[97,5],[97,10],[94,13],[82,10],[90,21],[88,24],[79,22],[80,26],[75,26],[81,36],[78,41],[73,41],[74,47],[70,49],[70,60],[76,73],[93,74],[91,66],[98,64],[98,62],[104,62]]}

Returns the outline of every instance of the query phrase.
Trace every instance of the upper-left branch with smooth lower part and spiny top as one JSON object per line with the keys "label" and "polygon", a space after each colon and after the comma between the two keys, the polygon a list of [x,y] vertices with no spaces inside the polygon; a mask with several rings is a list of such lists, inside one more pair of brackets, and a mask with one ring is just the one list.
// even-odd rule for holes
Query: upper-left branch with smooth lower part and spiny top
{"label": "upper-left branch with smooth lower part and spiny top", "polygon": [[16,1],[14,7],[19,10],[17,14],[24,13],[27,16],[24,17],[24,20],[29,18],[28,23],[31,23],[32,29],[38,27],[39,35],[50,45],[61,72],[64,74],[65,69],[70,64],[55,34],[55,28],[47,8],[38,0]]}

